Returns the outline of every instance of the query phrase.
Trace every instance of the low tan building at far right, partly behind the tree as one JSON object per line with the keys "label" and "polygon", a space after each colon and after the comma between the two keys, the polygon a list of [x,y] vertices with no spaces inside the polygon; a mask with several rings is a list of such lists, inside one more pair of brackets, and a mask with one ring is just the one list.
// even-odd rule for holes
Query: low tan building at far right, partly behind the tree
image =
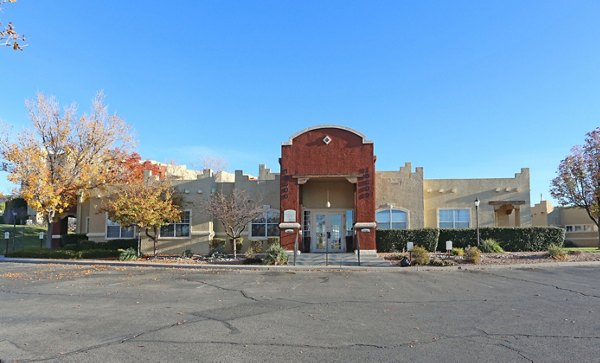
{"label": "low tan building at far right, partly behind the tree", "polygon": [[531,218],[534,226],[564,228],[567,246],[598,246],[598,227],[583,208],[554,207],[551,202],[542,200],[531,208]]}

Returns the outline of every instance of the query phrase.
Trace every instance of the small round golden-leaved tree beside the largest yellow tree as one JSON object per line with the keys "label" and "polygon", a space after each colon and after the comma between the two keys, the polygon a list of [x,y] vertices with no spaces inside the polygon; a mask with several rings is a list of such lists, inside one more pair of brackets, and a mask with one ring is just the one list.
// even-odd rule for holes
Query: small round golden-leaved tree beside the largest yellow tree
{"label": "small round golden-leaved tree beside the largest yellow tree", "polygon": [[[101,210],[109,218],[129,227],[136,225],[153,242],[156,257],[156,242],[160,227],[177,222],[181,218],[181,204],[168,180],[138,178],[115,186],[104,198]],[[141,246],[138,239],[138,256]]]}

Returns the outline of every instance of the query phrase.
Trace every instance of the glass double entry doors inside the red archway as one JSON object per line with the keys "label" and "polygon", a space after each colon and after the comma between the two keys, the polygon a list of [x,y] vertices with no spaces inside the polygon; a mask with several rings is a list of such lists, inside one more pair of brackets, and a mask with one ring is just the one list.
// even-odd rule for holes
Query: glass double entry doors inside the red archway
{"label": "glass double entry doors inside the red archway", "polygon": [[313,212],[311,252],[346,252],[344,213]]}

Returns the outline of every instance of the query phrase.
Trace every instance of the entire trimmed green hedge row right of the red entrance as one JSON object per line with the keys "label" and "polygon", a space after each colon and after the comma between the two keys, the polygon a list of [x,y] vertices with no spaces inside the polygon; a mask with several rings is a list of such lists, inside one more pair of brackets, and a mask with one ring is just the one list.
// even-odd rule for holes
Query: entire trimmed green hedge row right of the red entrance
{"label": "entire trimmed green hedge row right of the red entrance", "polygon": [[[562,245],[565,240],[564,229],[557,227],[485,227],[479,229],[479,234],[481,241],[494,239],[505,251],[545,251],[549,245]],[[477,230],[425,228],[377,231],[379,252],[402,251],[407,241],[427,247],[429,251],[438,249],[438,246],[445,248],[446,241],[452,241],[453,247],[465,248],[477,245]]]}

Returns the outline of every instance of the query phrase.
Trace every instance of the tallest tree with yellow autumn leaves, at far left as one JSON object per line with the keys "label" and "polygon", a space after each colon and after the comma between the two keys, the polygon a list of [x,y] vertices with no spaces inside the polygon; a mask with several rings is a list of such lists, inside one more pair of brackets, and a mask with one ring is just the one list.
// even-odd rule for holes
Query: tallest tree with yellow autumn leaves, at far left
{"label": "tallest tree with yellow autumn leaves, at far left", "polygon": [[15,142],[0,141],[8,179],[21,186],[20,195],[48,225],[46,244],[52,245],[52,224],[61,213],[86,197],[122,178],[121,171],[131,140],[125,122],[109,115],[99,92],[92,111],[76,117],[76,108],[60,111],[52,97],[38,94],[28,101],[33,130]]}

